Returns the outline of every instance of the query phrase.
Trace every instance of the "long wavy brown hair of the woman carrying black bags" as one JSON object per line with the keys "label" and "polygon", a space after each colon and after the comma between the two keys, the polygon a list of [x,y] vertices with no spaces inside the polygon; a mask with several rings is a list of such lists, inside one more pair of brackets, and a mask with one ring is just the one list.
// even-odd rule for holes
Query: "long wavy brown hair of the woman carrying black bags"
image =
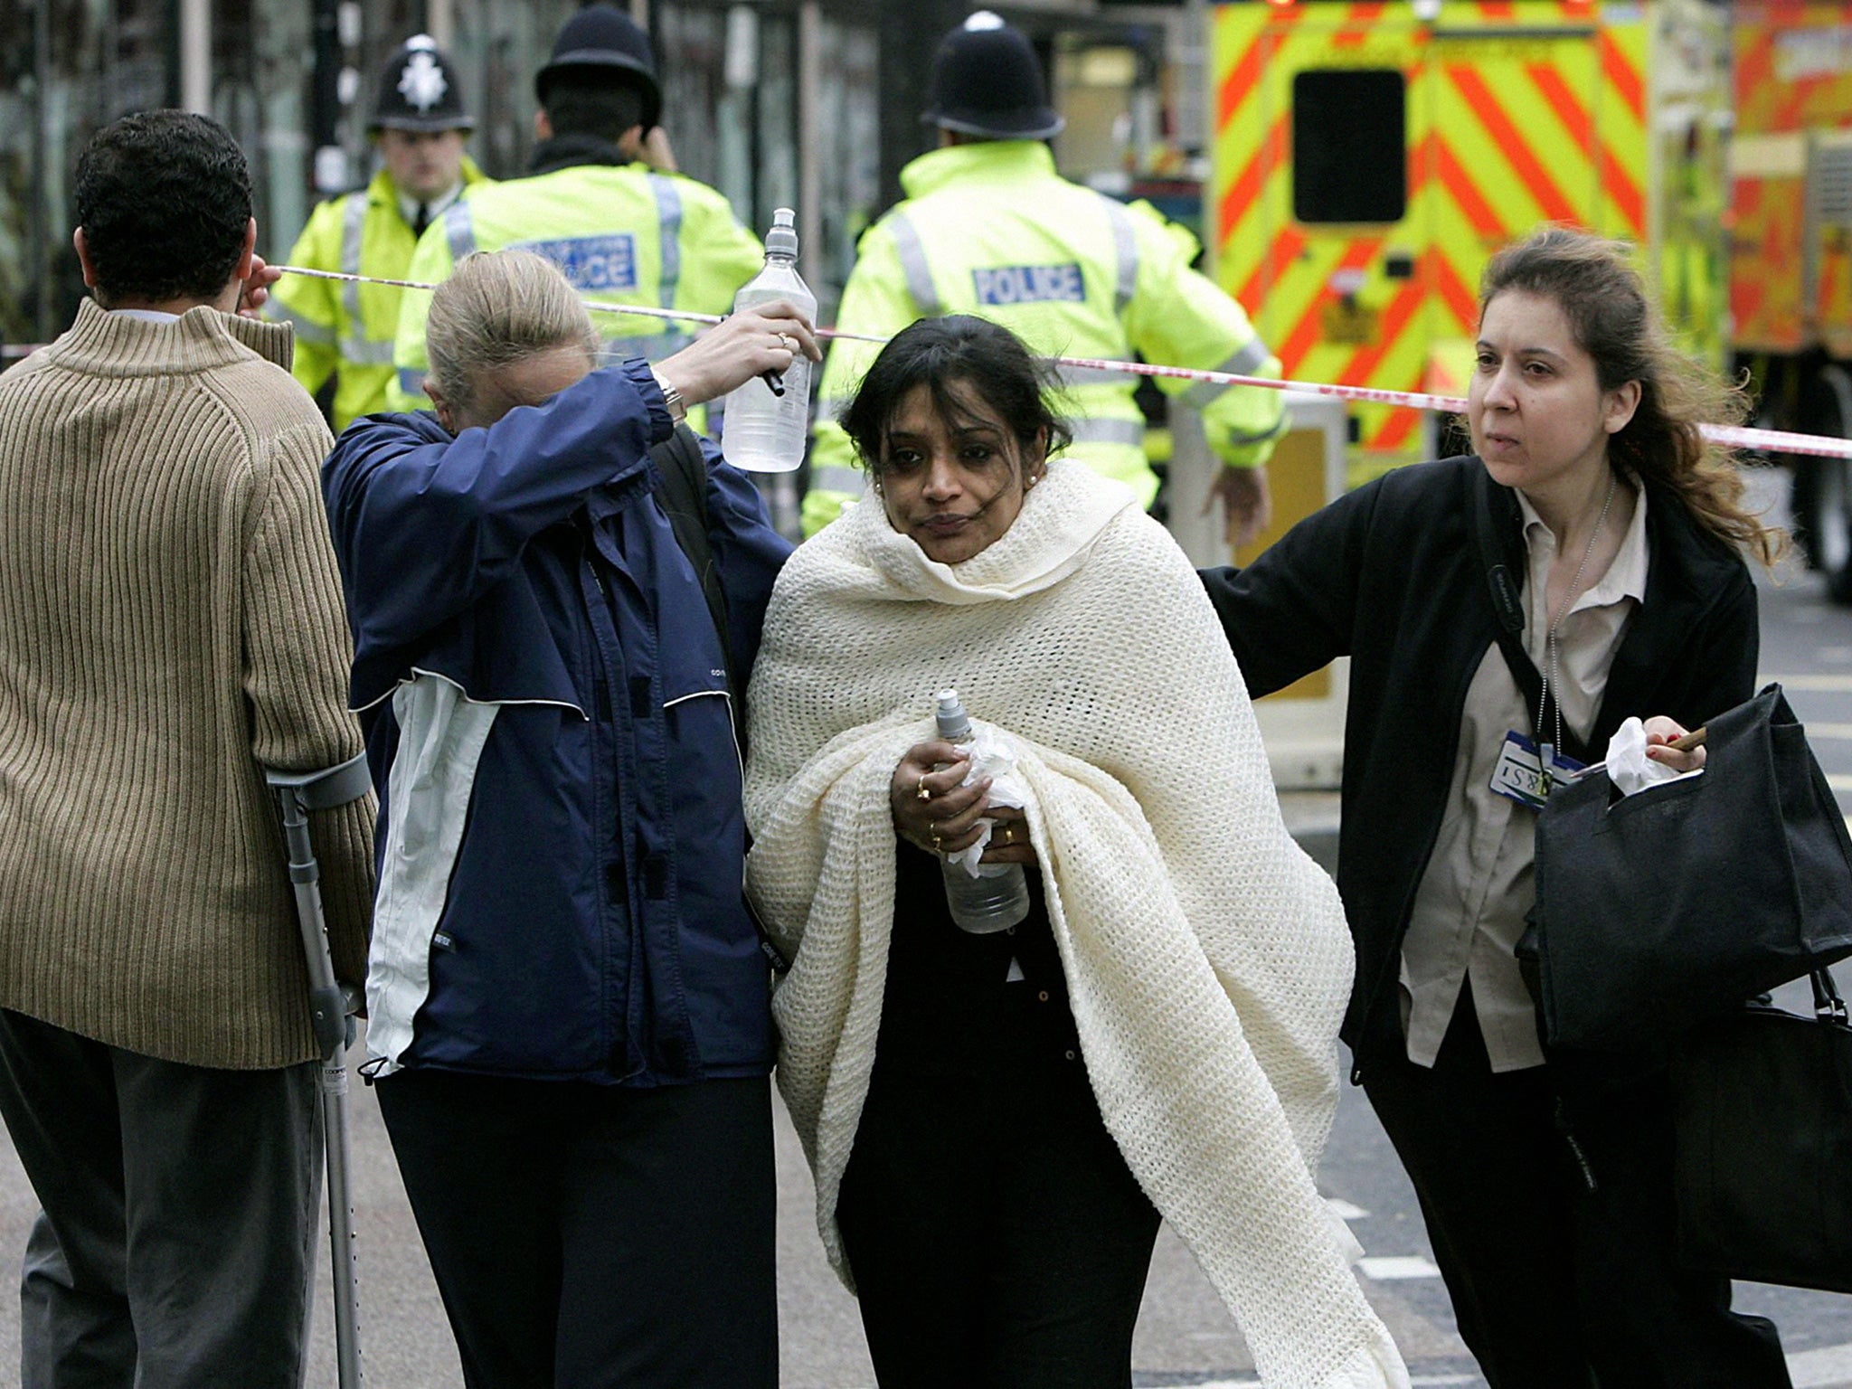
{"label": "long wavy brown hair of the woman carrying black bags", "polygon": [[1608,457],[1645,482],[1669,487],[1713,535],[1763,565],[1787,537],[1743,506],[1743,480],[1728,448],[1700,424],[1741,424],[1748,396],[1696,357],[1672,346],[1646,298],[1628,246],[1567,226],[1546,226],[1493,256],[1480,282],[1480,317],[1515,289],[1554,300],[1576,343],[1595,359],[1602,391],[1639,382],[1639,407],[1608,441]]}

